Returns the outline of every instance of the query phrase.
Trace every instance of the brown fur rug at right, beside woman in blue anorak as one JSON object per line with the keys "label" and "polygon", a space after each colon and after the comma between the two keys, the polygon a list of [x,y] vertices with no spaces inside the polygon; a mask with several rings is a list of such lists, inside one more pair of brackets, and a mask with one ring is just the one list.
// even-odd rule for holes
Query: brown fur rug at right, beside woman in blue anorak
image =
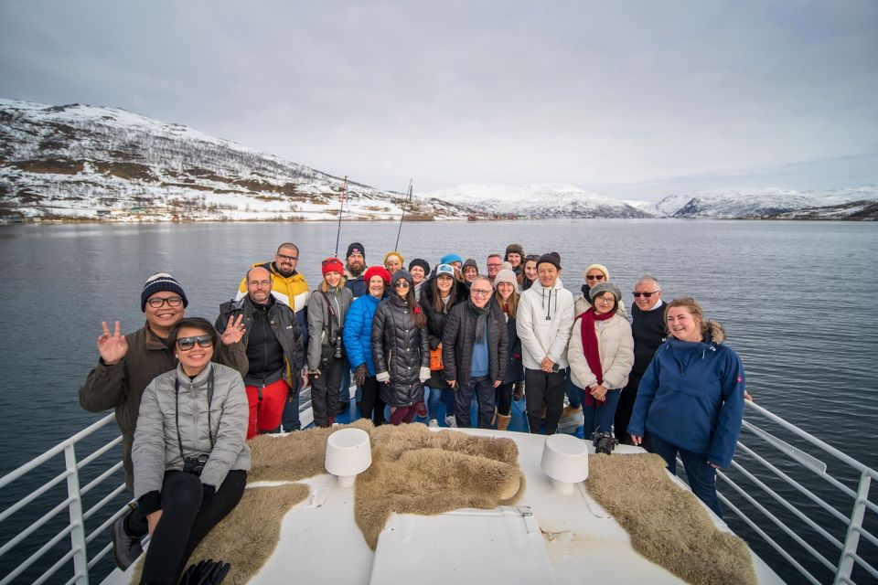
{"label": "brown fur rug at right, beside woman in blue anorak", "polygon": [[626,529],[638,553],[690,583],[755,585],[747,545],[713,525],[659,455],[590,455],[588,468],[589,493]]}

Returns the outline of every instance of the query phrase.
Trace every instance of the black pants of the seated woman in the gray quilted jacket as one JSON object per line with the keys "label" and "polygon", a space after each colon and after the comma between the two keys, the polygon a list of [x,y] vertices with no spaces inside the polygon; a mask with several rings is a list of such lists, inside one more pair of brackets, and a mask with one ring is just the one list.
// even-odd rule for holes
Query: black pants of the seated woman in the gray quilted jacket
{"label": "black pants of the seated woman in the gray quilted jacket", "polygon": [[176,585],[192,551],[238,505],[246,484],[247,472],[230,471],[217,493],[202,502],[201,480],[196,475],[166,472],[161,493],[162,517],[146,549],[141,585]]}

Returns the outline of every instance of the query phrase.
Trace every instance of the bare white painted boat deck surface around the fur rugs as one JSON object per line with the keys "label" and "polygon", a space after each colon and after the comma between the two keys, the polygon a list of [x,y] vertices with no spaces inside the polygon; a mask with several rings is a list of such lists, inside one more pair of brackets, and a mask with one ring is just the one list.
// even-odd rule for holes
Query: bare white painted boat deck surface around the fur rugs
{"label": "bare white painted boat deck surface around the fur rugs", "polygon": [[[440,516],[394,515],[373,552],[354,522],[354,490],[338,487],[333,476],[319,475],[302,482],[311,495],[284,516],[273,557],[251,583],[683,582],[637,554],[626,531],[586,493],[584,484],[569,495],[552,490],[540,469],[545,436],[461,432],[516,441],[528,482],[519,505]],[[613,456],[630,452],[642,450],[623,445]],[[760,583],[783,582],[753,558]],[[127,582],[118,570],[105,581]]]}

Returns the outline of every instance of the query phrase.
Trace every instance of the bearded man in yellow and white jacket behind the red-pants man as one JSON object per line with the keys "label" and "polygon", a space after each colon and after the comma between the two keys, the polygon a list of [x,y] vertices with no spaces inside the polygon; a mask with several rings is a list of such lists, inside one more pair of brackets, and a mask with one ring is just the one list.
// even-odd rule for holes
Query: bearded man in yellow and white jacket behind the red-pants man
{"label": "bearded man in yellow and white jacket behind the red-pants man", "polygon": [[[308,346],[308,283],[305,277],[295,270],[299,263],[299,247],[291,242],[281,244],[274,261],[256,262],[252,268],[264,268],[272,275],[272,296],[290,307],[302,332],[302,345]],[[241,281],[235,301],[247,296],[247,277]],[[295,387],[284,405],[284,431],[298,431],[302,428],[299,420],[299,387],[301,372],[293,372]]]}

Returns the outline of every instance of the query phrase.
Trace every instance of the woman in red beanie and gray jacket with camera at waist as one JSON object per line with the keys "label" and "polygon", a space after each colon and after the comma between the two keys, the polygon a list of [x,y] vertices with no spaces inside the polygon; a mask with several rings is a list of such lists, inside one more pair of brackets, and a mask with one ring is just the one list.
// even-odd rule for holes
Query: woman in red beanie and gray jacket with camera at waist
{"label": "woman in red beanie and gray jacket with camera at waist", "polygon": [[308,297],[308,378],[314,425],[331,427],[339,400],[350,399],[350,389],[341,388],[348,369],[341,336],[354,295],[342,280],[345,266],[337,258],[323,261],[321,271],[323,282]]}

